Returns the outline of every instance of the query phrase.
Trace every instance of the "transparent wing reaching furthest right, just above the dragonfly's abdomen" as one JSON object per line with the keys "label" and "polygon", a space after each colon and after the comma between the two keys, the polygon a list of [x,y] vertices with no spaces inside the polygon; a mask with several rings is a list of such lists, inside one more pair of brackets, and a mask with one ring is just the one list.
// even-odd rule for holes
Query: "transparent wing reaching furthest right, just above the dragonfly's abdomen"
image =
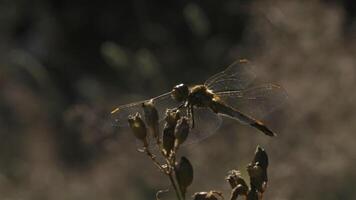
{"label": "transparent wing reaching furthest right, just above the dragonfly's abdomen", "polygon": [[272,83],[240,91],[217,92],[216,95],[229,106],[256,119],[265,118],[288,98],[281,86]]}

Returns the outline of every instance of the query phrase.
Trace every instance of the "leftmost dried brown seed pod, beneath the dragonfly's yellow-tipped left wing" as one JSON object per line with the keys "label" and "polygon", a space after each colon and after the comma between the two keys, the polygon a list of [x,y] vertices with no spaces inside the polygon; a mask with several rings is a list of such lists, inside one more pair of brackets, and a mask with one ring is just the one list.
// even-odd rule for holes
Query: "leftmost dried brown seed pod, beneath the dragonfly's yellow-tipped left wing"
{"label": "leftmost dried brown seed pod, beneath the dragonfly's yellow-tipped left wing", "polygon": [[141,115],[139,113],[136,113],[134,116],[130,115],[128,122],[135,137],[141,140],[144,146],[147,146],[147,129]]}

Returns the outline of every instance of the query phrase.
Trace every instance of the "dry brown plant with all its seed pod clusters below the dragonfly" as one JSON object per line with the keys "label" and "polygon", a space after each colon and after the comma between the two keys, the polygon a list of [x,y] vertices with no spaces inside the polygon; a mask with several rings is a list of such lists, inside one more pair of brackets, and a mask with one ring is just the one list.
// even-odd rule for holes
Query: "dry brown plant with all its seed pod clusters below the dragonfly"
{"label": "dry brown plant with all its seed pod clusters below the dragonfly", "polygon": [[[142,148],[139,152],[145,153],[153,164],[166,175],[178,200],[185,200],[187,188],[193,182],[193,166],[188,158],[182,156],[177,160],[180,146],[189,137],[191,129],[189,118],[184,116],[178,108],[167,109],[164,118],[163,131],[160,132],[159,116],[154,104],[149,101],[142,104],[144,119],[139,113],[128,118],[130,128],[135,137],[140,141]],[[158,149],[156,155],[155,150]],[[230,200],[237,200],[242,196],[246,200],[261,200],[267,187],[268,156],[264,149],[257,147],[252,162],[247,166],[250,186],[241,177],[238,170],[231,170],[226,177],[231,186]],[[166,192],[158,191],[159,194]],[[197,192],[194,200],[218,200],[224,199],[222,192],[211,190],[209,192]]]}

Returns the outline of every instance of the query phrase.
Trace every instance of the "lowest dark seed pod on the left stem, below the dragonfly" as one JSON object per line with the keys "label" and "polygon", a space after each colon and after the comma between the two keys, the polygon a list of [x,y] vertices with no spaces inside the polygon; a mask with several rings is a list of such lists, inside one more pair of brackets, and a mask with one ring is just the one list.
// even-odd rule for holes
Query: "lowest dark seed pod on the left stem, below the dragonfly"
{"label": "lowest dark seed pod on the left stem, below the dragonfly", "polygon": [[176,165],[175,174],[178,185],[183,195],[185,195],[188,186],[193,182],[193,166],[186,157],[182,157]]}

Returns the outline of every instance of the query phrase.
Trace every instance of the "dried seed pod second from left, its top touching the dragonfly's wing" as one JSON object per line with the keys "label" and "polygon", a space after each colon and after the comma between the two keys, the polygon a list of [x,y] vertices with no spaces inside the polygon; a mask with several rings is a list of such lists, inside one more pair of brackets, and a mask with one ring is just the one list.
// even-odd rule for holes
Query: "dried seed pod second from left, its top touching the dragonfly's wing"
{"label": "dried seed pod second from left, its top touching the dragonfly's wing", "polygon": [[145,121],[146,121],[147,127],[150,130],[153,137],[157,138],[158,133],[159,133],[158,111],[155,108],[152,100],[143,103],[142,108],[143,108],[143,112],[145,115]]}

